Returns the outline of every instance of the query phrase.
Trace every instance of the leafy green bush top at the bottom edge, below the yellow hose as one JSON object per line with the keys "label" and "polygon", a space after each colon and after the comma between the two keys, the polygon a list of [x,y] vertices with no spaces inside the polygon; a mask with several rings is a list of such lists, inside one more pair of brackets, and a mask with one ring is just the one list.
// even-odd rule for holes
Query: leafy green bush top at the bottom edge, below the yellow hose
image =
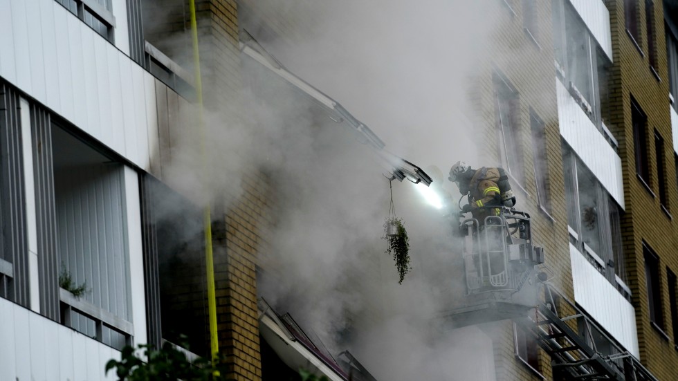
{"label": "leafy green bush top at the bottom edge, below the yellow hose", "polygon": [[[146,360],[138,353],[143,353]],[[120,381],[217,381],[226,380],[228,370],[222,361],[212,364],[205,357],[189,360],[184,351],[169,342],[161,349],[150,344],[139,344],[136,349],[125,346],[120,361],[112,359],[106,363],[106,374],[113,369]]]}

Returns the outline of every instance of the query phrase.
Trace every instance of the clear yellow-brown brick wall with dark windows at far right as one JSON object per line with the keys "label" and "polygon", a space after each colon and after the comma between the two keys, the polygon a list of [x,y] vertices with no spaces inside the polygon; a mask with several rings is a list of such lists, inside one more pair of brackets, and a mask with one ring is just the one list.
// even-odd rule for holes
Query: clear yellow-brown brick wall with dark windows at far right
{"label": "clear yellow-brown brick wall with dark windows at far right", "polygon": [[[673,340],[666,338],[650,325],[648,292],[645,286],[645,265],[642,242],[650,245],[659,256],[661,303],[663,305],[663,331],[672,337],[669,310],[666,266],[673,272],[678,270],[678,256],[675,252],[677,225],[671,216],[661,210],[657,178],[657,152],[654,149],[654,130],[664,142],[666,156],[666,187],[669,205],[678,205],[678,189],[675,182],[673,146],[668,103],[668,74],[666,69],[666,45],[664,41],[663,10],[661,1],[655,1],[653,22],[654,41],[657,45],[657,72],[659,80],[650,71],[648,61],[648,36],[645,29],[645,1],[639,1],[639,48],[625,30],[623,1],[607,0],[612,28],[612,49],[614,67],[612,73],[612,132],[619,140],[619,155],[622,159],[626,214],[623,219],[624,250],[629,270],[629,284],[636,308],[641,362],[660,380],[675,380],[675,364],[678,352],[673,349]],[[635,148],[631,120],[631,96],[648,117],[648,143],[650,162],[650,190],[636,176]],[[672,212],[676,212],[672,207]]]}

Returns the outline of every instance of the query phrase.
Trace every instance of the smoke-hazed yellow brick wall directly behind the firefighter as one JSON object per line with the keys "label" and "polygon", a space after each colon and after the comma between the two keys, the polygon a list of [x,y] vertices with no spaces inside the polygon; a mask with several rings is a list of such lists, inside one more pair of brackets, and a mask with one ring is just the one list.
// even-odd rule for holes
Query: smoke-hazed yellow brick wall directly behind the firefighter
{"label": "smoke-hazed yellow brick wall directly behind the firefighter", "polygon": [[[535,1],[538,32],[533,40],[524,30],[521,0],[491,1],[488,17],[498,17],[491,48],[494,57],[486,62],[479,73],[479,88],[473,96],[479,102],[483,132],[478,134],[478,147],[482,147],[486,165],[501,163],[499,136],[495,118],[495,89],[493,73],[500,72],[517,91],[519,115],[517,125],[520,131],[519,144],[522,147],[524,183],[517,184],[511,179],[513,192],[517,196],[517,209],[529,212],[532,217],[533,240],[545,249],[546,264],[551,269],[553,283],[574,299],[571,265],[569,259],[569,235],[567,232],[567,210],[565,187],[562,176],[560,131],[556,102],[556,71],[553,66],[553,30],[551,25],[551,1]],[[533,140],[531,136],[530,112],[545,124],[547,186],[551,212],[544,213],[538,206],[534,178]],[[495,344],[497,380],[541,380],[531,369],[515,358],[513,324],[510,321],[484,326],[491,333]],[[539,350],[539,371],[546,380],[552,380],[551,358]]]}

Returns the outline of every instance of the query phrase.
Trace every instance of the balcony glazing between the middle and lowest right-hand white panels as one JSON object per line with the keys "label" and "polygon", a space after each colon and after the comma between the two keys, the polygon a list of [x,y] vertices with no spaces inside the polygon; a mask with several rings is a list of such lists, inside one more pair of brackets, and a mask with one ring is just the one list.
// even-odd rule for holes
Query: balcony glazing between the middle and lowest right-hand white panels
{"label": "balcony glazing between the middle and lowest right-hand white panels", "polygon": [[619,289],[626,279],[621,207],[565,142],[562,152],[570,242]]}

